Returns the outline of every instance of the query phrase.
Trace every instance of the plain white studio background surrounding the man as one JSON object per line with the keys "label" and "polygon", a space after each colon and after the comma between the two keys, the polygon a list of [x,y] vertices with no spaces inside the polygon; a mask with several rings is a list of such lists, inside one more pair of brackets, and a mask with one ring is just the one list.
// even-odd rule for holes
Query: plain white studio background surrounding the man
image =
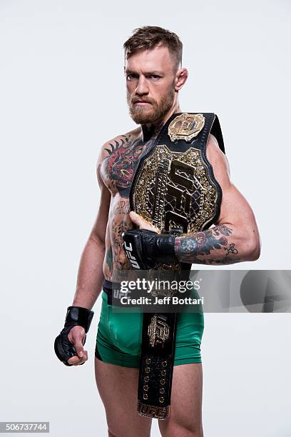
{"label": "plain white studio background surrounding the man", "polygon": [[[287,0],[0,1],[0,421],[107,435],[93,374],[100,300],[84,366],[59,363],[53,340],[98,208],[98,149],[135,126],[122,44],[136,27],[180,36],[181,109],[220,119],[262,239],[258,261],[229,268],[290,268],[290,11]],[[289,314],[205,313],[202,353],[205,437],[291,435]]]}

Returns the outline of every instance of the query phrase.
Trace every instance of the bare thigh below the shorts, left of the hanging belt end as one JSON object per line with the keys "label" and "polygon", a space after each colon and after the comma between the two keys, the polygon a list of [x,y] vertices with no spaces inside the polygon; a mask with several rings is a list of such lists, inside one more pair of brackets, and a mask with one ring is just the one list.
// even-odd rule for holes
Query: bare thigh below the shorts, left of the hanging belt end
{"label": "bare thigh below the shorts, left of the hanging belt end", "polygon": [[109,437],[149,437],[151,419],[139,416],[138,368],[103,363],[95,357],[95,376],[103,401]]}

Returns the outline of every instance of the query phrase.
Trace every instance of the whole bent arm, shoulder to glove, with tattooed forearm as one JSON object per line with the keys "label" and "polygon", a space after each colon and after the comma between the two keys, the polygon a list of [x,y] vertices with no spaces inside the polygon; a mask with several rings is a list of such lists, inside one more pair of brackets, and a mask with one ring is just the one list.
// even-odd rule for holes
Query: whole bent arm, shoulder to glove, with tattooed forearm
{"label": "whole bent arm, shoulder to glove, with tattooed forearm", "polygon": [[246,199],[230,182],[228,161],[211,134],[206,154],[223,191],[220,216],[216,226],[206,231],[176,237],[175,254],[184,263],[220,265],[255,261],[260,256],[255,216]]}

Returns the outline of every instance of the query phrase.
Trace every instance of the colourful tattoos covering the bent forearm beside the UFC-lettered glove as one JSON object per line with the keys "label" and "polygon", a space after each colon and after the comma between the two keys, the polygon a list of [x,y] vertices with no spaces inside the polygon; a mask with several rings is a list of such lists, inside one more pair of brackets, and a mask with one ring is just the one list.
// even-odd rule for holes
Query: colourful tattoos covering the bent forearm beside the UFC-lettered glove
{"label": "colourful tattoos covering the bent forearm beside the UFC-lettered glove", "polygon": [[237,263],[240,261],[240,258],[236,257],[238,248],[235,247],[235,243],[228,241],[228,236],[232,232],[233,230],[227,226],[218,225],[191,236],[176,237],[175,254],[178,260],[184,263],[213,265]]}

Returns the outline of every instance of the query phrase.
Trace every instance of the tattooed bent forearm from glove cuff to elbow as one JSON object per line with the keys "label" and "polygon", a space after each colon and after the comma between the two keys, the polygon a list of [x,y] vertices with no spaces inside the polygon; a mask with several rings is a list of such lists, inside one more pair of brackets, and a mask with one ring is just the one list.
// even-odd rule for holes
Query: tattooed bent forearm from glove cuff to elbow
{"label": "tattooed bent forearm from glove cuff to elbow", "polygon": [[233,264],[253,261],[259,252],[255,230],[225,224],[175,238],[175,255],[183,263]]}

